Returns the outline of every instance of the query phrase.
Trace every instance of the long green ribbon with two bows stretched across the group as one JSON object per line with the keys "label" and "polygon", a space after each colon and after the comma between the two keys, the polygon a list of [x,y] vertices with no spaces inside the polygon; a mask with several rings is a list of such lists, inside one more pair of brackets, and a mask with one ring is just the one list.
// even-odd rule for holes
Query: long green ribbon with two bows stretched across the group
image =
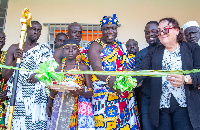
{"label": "long green ribbon with two bows stretched across the group", "polygon": [[[169,74],[190,74],[200,72],[200,69],[193,70],[140,70],[140,71],[77,71],[69,70],[67,72],[55,72],[55,69],[58,67],[58,63],[55,60],[45,61],[41,63],[38,70],[28,70],[23,68],[17,68],[13,66],[6,66],[0,64],[0,68],[5,69],[15,69],[23,71],[32,71],[38,73],[35,77],[48,85],[53,85],[52,79],[55,79],[57,82],[61,82],[64,78],[65,73],[69,74],[96,74],[96,75],[113,75],[116,76],[116,82],[114,85],[115,89],[120,89],[122,92],[131,91],[137,86],[137,81],[131,76],[150,76],[150,77],[162,77],[168,76]],[[122,76],[123,75],[123,76]]]}

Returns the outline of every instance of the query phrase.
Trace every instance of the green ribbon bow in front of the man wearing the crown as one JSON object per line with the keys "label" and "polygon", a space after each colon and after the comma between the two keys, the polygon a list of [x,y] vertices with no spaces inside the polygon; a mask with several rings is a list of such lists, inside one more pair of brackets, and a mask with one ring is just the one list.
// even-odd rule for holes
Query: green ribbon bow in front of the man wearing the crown
{"label": "green ribbon bow in front of the man wearing the crown", "polygon": [[119,89],[121,92],[125,91],[131,92],[136,86],[137,86],[136,78],[123,75],[123,76],[116,76],[116,81],[114,83],[113,88],[115,90]]}

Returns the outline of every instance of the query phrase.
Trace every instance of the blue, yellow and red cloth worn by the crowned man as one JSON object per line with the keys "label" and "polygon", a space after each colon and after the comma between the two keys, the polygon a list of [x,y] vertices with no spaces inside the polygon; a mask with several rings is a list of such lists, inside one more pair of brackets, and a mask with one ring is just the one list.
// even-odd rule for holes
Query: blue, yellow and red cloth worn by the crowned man
{"label": "blue, yellow and red cloth worn by the crowned man", "polygon": [[[90,66],[87,52],[90,42],[82,49],[83,62]],[[95,42],[102,42],[100,39]],[[121,71],[129,69],[130,63],[127,58],[125,45],[114,40],[112,46],[107,46],[101,52],[102,69],[105,71]],[[90,66],[92,69],[92,67]],[[138,109],[135,101],[135,93],[124,92],[122,95],[113,93],[106,83],[98,80],[93,75],[92,105],[96,130],[140,130]]]}

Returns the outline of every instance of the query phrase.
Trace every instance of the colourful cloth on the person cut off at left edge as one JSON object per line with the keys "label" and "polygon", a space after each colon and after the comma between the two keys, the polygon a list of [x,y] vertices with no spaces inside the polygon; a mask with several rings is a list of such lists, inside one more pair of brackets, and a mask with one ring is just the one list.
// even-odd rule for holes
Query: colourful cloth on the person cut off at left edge
{"label": "colourful cloth on the person cut off at left edge", "polygon": [[[1,53],[1,60],[0,60],[0,64],[4,65],[5,60],[6,60],[6,51],[2,51]],[[0,93],[2,91],[4,91],[6,89],[7,83],[6,81],[2,78],[2,74],[1,74],[2,68],[0,68]],[[8,101],[0,101],[0,130],[4,130],[6,129],[5,127],[5,118],[6,118],[6,111],[7,111],[7,103]]]}

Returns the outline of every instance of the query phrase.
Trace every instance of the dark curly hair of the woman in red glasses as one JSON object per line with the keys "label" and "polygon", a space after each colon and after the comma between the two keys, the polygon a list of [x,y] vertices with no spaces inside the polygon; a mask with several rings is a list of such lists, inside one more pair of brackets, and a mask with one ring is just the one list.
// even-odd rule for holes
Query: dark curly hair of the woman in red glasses
{"label": "dark curly hair of the woman in red glasses", "polygon": [[177,35],[177,42],[178,43],[184,42],[184,34],[181,31],[179,23],[178,23],[178,21],[176,19],[174,19],[174,18],[163,18],[163,19],[161,19],[159,21],[159,23],[162,22],[162,21],[168,21],[169,22],[168,24],[171,23],[173,25],[173,27],[178,28],[179,29],[179,34]]}

